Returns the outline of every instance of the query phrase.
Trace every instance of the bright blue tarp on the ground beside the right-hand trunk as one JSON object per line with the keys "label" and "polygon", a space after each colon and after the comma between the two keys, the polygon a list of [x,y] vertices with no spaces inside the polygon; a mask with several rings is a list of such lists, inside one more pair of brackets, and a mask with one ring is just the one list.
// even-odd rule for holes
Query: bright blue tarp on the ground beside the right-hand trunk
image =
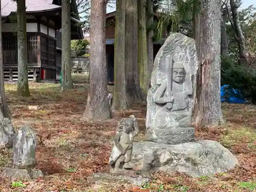
{"label": "bright blue tarp on the ground beside the right-hand trunk", "polygon": [[224,84],[221,87],[221,102],[246,103],[246,99],[243,98],[238,90],[229,88],[228,84]]}

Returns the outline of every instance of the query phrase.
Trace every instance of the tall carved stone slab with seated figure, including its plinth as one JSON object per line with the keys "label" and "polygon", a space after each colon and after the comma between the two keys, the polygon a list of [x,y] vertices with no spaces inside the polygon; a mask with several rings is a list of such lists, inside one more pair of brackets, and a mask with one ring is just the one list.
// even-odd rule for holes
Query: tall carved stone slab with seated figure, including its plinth
{"label": "tall carved stone slab with seated figure, including its plinth", "polygon": [[156,55],[147,94],[147,140],[163,144],[194,141],[191,109],[198,60],[195,41],[170,35]]}

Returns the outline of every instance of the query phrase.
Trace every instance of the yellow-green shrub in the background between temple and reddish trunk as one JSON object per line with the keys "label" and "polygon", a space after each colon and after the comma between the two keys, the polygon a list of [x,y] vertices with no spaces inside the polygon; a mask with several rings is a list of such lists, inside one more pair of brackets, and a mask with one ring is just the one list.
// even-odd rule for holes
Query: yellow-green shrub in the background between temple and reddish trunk
{"label": "yellow-green shrub in the background between temple and reddish trunk", "polygon": [[82,56],[89,51],[89,41],[87,39],[71,40],[71,55]]}

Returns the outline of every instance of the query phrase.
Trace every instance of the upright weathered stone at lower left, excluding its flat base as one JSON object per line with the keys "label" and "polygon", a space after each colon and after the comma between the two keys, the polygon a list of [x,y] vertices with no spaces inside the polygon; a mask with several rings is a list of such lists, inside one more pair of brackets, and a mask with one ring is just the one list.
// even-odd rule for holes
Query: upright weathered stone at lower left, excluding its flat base
{"label": "upright weathered stone at lower left, excluding its flat base", "polygon": [[20,169],[32,168],[36,164],[36,135],[30,126],[25,125],[13,140],[13,167]]}

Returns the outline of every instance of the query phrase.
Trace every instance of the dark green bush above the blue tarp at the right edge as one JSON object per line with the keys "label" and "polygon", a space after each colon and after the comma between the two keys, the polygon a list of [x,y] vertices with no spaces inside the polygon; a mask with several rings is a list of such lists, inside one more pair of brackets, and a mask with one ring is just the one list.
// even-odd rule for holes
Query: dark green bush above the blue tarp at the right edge
{"label": "dark green bush above the blue tarp at the right edge", "polygon": [[256,70],[237,65],[232,57],[223,58],[221,84],[239,90],[243,98],[256,104]]}

